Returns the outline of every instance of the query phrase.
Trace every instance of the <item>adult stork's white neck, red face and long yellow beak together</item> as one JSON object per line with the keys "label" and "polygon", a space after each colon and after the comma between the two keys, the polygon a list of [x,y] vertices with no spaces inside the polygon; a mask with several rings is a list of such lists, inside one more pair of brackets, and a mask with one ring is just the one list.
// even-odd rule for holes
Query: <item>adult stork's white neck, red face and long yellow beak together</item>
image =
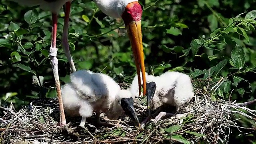
{"label": "adult stork's white neck, red face and long yellow beak together", "polygon": [[144,66],[144,53],[142,47],[141,15],[142,8],[138,0],[94,0],[98,7],[108,16],[122,18],[132,45],[132,52],[136,62],[138,84],[140,91],[140,67],[143,80],[143,95],[146,93],[146,78]]}

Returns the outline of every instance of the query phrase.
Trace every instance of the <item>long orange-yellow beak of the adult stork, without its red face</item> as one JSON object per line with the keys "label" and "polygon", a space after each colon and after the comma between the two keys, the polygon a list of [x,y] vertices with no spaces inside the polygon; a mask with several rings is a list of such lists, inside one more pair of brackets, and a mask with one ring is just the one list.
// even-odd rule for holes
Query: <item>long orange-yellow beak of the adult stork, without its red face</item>
{"label": "long orange-yellow beak of the adult stork, without its red face", "polygon": [[146,94],[146,77],[145,77],[145,65],[144,65],[144,53],[142,46],[142,32],[140,21],[130,22],[126,25],[126,29],[129,35],[129,39],[132,45],[132,52],[135,58],[136,71],[138,75],[139,84],[139,96],[141,92],[141,81],[140,81],[140,67],[143,81],[143,96]]}

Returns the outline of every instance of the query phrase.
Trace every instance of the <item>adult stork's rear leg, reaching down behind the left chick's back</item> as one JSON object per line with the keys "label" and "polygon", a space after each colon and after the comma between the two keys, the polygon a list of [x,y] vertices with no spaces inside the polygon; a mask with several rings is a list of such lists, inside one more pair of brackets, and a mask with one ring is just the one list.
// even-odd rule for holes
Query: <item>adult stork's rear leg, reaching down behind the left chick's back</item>
{"label": "adult stork's rear leg, reaching down behind the left chick's back", "polygon": [[64,18],[63,33],[62,33],[62,46],[64,47],[64,52],[66,54],[66,57],[68,58],[71,71],[75,72],[76,68],[74,65],[74,61],[71,57],[69,44],[68,44],[68,21],[69,21],[70,5],[71,5],[70,2],[66,2],[65,4],[65,18]]}

